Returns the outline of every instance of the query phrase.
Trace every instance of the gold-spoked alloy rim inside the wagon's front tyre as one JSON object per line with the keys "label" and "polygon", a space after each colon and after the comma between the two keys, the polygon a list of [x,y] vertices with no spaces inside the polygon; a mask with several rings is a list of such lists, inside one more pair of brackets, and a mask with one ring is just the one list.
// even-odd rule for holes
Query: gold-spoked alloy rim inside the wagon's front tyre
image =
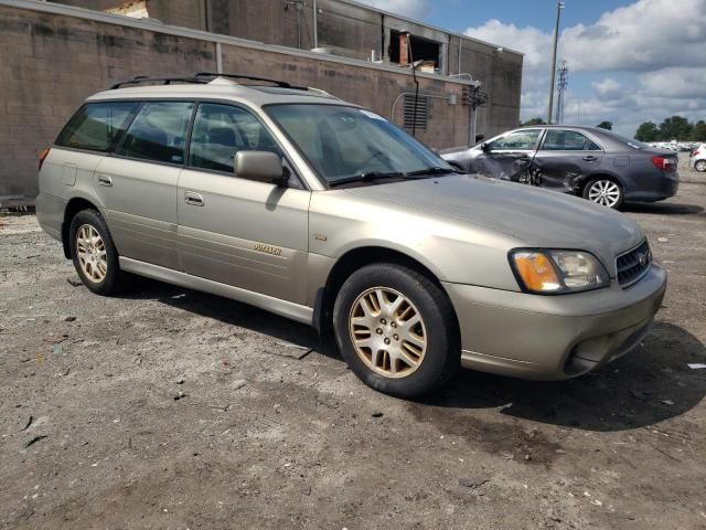
{"label": "gold-spoked alloy rim inside the wagon's front tyre", "polygon": [[349,331],[361,360],[385,378],[410,375],[427,351],[421,315],[407,297],[387,287],[373,287],[355,299]]}

